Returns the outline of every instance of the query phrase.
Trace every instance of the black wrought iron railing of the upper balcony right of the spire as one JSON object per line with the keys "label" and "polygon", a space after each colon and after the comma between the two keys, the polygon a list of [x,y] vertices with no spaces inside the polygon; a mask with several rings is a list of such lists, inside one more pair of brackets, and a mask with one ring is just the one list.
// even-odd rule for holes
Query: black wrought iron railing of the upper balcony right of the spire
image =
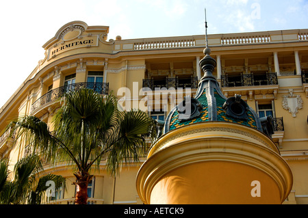
{"label": "black wrought iron railing of the upper balcony right of the spire", "polygon": [[222,75],[222,87],[278,85],[277,73]]}

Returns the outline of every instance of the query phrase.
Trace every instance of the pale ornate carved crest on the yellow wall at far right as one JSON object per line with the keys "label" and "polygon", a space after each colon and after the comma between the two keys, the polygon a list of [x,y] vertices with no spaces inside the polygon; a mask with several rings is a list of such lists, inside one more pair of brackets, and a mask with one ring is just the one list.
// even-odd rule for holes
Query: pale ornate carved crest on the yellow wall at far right
{"label": "pale ornate carved crest on the yellow wall at far right", "polygon": [[288,96],[283,96],[282,105],[283,109],[286,109],[287,111],[292,113],[292,117],[295,118],[296,113],[298,113],[298,109],[303,108],[303,100],[300,95],[294,95],[292,89],[289,90],[289,93],[290,94]]}

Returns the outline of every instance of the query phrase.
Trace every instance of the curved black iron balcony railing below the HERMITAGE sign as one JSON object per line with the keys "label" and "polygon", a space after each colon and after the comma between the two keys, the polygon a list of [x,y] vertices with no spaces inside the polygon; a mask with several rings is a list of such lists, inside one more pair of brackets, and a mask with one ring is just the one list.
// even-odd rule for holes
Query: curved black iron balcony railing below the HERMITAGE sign
{"label": "curved black iron balcony railing below the HERMITAGE sign", "polygon": [[42,105],[62,97],[64,93],[79,90],[81,88],[88,88],[99,94],[108,94],[109,83],[74,83],[58,87],[38,98],[38,100],[36,100],[31,106],[31,113]]}

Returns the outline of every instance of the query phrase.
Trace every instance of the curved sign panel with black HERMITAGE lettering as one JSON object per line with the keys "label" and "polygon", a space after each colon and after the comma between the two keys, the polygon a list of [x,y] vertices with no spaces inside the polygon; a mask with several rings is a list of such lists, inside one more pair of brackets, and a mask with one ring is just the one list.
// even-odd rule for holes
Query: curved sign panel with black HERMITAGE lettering
{"label": "curved sign panel with black HERMITAGE lettering", "polygon": [[99,46],[99,36],[85,36],[84,38],[73,40],[73,41],[63,41],[57,43],[48,51],[48,60],[55,57],[55,55],[60,55],[66,51],[73,49],[81,49],[85,47]]}

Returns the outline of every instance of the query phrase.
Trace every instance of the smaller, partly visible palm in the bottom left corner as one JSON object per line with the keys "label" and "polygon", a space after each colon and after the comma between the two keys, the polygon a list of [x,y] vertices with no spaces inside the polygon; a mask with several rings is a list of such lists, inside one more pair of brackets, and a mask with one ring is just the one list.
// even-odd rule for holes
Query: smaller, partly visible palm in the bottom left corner
{"label": "smaller, partly visible palm in the bottom left corner", "polygon": [[[42,163],[38,155],[25,156],[14,165],[13,180],[8,180],[8,161],[0,161],[0,204],[41,204],[42,196],[49,189],[47,181],[54,182],[55,190],[64,186],[62,176],[39,176]],[[54,190],[54,191],[55,191]]]}

